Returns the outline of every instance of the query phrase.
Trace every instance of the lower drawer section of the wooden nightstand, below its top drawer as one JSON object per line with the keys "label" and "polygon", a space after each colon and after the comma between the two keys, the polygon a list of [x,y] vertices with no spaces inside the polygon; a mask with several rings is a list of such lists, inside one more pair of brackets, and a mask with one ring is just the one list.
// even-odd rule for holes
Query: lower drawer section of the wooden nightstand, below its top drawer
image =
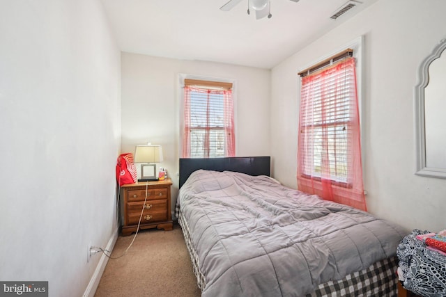
{"label": "lower drawer section of the wooden nightstand, below its top drawer", "polygon": [[141,218],[141,224],[167,220],[167,200],[148,200],[146,201],[146,204],[144,204],[144,202],[129,202],[127,204],[128,225],[138,224],[143,205],[145,205],[145,207]]}

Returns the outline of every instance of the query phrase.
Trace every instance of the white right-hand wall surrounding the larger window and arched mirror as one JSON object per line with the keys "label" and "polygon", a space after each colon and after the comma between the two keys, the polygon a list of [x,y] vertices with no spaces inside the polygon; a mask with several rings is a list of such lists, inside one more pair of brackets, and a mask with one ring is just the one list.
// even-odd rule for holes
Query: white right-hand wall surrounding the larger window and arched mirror
{"label": "white right-hand wall surrounding the larger window and arched mirror", "polygon": [[272,70],[275,177],[296,182],[298,70],[364,35],[364,187],[369,211],[408,229],[446,227],[446,179],[414,175],[417,69],[446,37],[446,1],[380,0]]}

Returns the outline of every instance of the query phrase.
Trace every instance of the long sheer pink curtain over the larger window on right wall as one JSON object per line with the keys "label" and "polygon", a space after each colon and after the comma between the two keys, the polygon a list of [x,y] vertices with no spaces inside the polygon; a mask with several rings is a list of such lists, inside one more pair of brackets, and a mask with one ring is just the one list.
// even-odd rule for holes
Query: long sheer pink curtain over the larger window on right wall
{"label": "long sheer pink curtain over the larger window on right wall", "polygon": [[302,77],[298,189],[367,211],[355,58]]}

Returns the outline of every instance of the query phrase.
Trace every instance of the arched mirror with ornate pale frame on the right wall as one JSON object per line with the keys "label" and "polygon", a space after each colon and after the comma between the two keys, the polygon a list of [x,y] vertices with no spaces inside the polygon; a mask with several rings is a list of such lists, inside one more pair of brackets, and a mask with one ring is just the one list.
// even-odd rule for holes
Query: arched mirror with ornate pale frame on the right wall
{"label": "arched mirror with ornate pale frame on the right wall", "polygon": [[418,70],[415,86],[417,175],[446,178],[446,39]]}

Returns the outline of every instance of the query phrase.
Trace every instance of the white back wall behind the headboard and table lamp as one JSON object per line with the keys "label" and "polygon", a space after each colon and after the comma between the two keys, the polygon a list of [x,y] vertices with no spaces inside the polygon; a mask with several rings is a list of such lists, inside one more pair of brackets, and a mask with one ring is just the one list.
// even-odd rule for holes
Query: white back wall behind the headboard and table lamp
{"label": "white back wall behind the headboard and table lamp", "polygon": [[164,162],[172,178],[172,209],[178,193],[179,122],[178,75],[236,82],[236,155],[270,154],[270,70],[202,61],[181,61],[123,53],[122,151],[151,142],[162,145]]}

